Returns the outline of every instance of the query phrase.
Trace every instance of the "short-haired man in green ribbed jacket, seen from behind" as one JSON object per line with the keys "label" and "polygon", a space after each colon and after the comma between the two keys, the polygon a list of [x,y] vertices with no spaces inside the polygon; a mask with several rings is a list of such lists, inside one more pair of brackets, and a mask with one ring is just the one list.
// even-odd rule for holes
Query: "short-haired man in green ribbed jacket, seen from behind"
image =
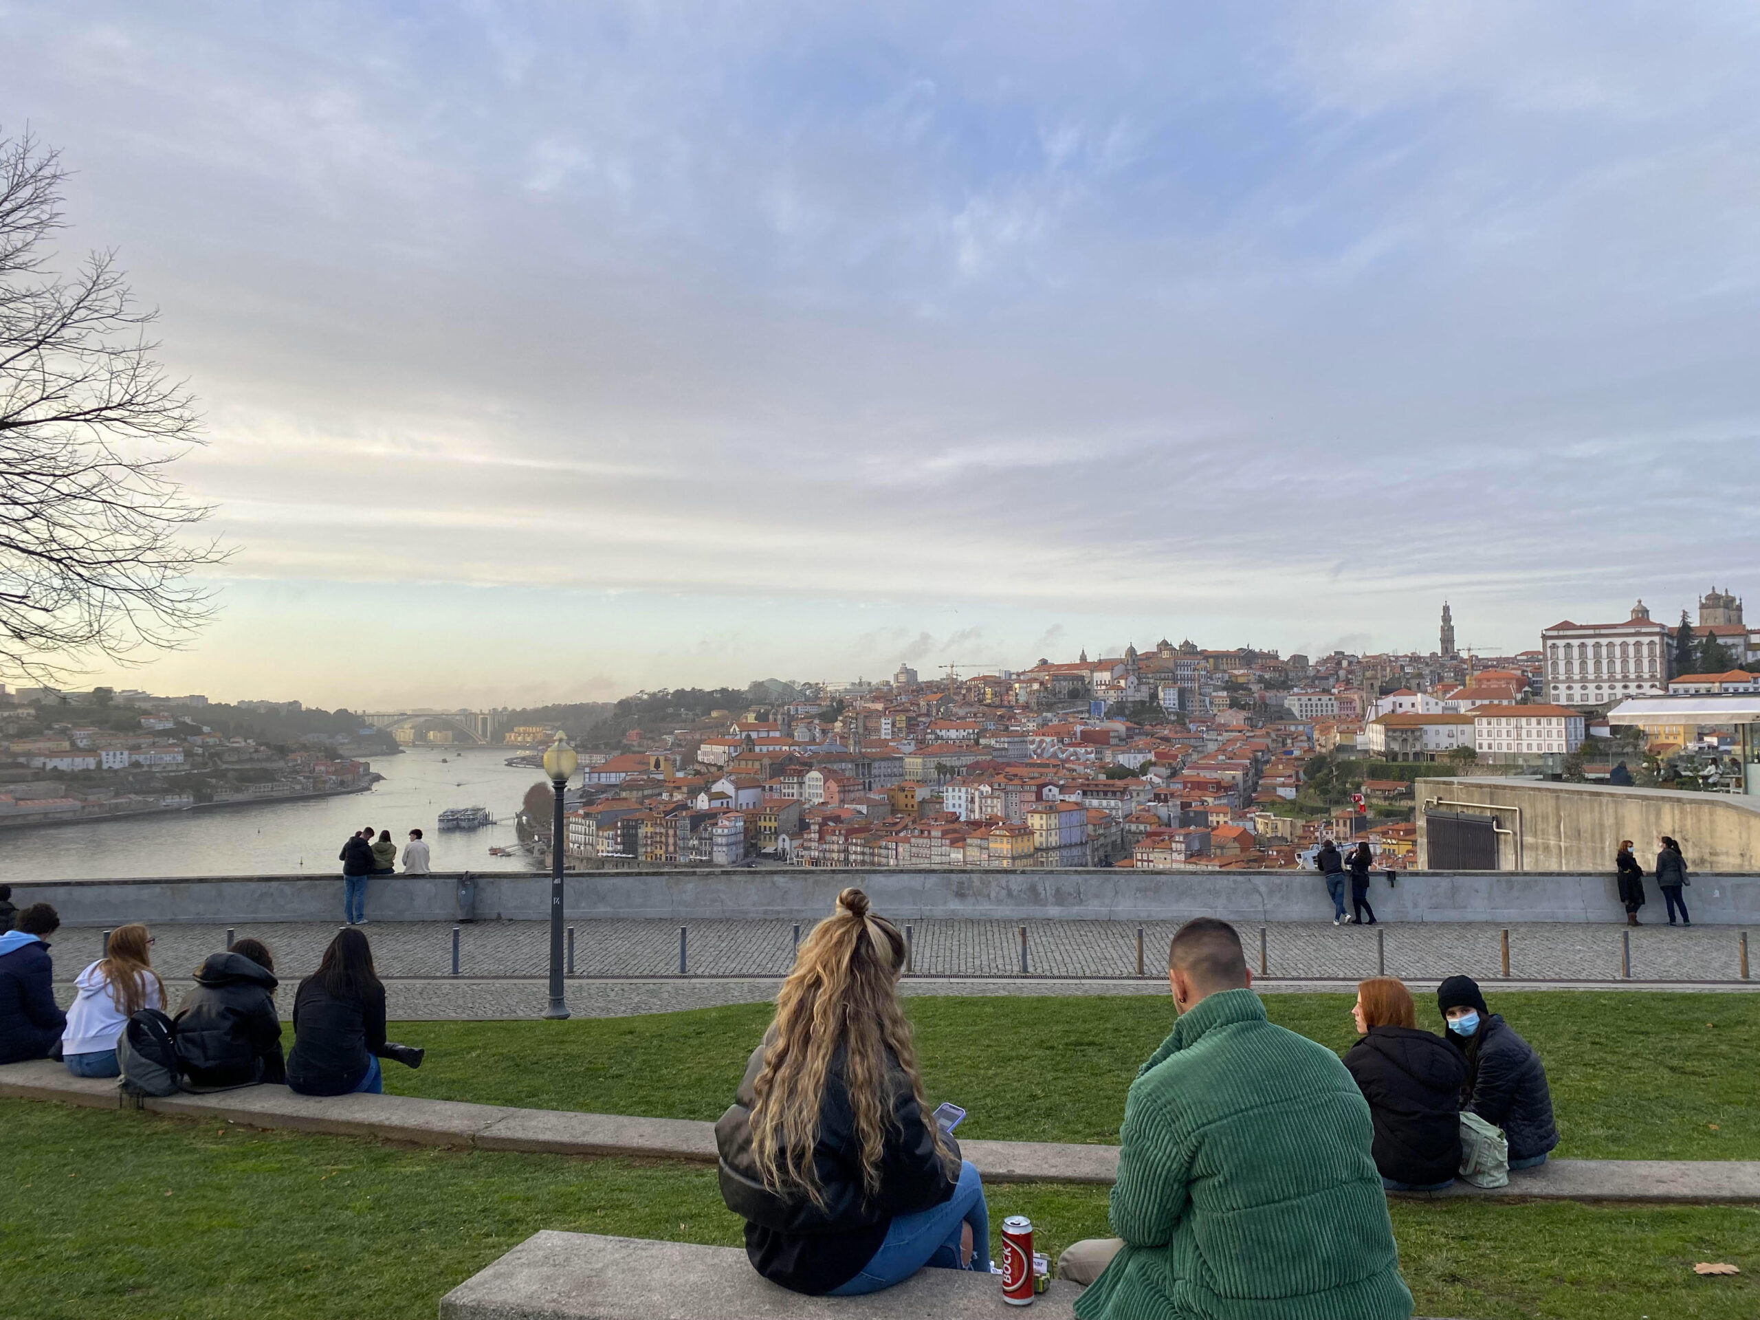
{"label": "short-haired man in green ribbed jacket, seen from behind", "polygon": [[1408,1320],[1369,1105],[1338,1056],[1272,1026],[1241,936],[1167,950],[1179,1021],[1125,1100],[1111,1220],[1060,1274],[1079,1320]]}

